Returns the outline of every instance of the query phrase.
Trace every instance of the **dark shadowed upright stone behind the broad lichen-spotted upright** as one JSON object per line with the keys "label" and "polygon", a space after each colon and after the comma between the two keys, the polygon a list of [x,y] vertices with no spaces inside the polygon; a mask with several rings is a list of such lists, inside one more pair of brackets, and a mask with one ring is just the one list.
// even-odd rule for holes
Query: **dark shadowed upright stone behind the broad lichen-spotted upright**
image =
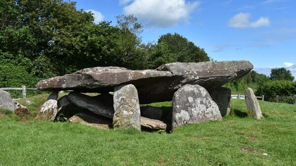
{"label": "dark shadowed upright stone behind the broad lichen-spotted upright", "polygon": [[219,106],[222,116],[229,115],[231,106],[231,89],[219,87],[212,90],[210,93],[211,98]]}

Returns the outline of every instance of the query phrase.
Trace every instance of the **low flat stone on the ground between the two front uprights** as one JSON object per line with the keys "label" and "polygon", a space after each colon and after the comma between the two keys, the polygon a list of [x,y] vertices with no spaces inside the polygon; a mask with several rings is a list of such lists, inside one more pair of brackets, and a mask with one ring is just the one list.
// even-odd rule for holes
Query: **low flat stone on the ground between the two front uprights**
{"label": "low flat stone on the ground between the two front uprights", "polygon": [[141,126],[144,129],[166,130],[167,125],[162,121],[141,117]]}

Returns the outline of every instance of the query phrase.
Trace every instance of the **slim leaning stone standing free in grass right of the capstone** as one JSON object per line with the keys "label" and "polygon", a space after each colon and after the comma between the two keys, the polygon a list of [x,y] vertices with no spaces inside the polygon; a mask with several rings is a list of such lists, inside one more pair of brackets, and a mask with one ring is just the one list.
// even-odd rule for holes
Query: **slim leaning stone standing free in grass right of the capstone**
{"label": "slim leaning stone standing free in grass right of the capstone", "polygon": [[245,90],[245,100],[247,104],[248,116],[254,119],[263,118],[259,102],[252,88],[247,88]]}

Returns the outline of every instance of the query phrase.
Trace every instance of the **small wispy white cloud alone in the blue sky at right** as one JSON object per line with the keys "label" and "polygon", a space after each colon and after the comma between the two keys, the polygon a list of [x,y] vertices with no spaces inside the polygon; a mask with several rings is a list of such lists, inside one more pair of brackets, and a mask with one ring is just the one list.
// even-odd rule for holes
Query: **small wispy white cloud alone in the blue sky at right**
{"label": "small wispy white cloud alone in the blue sky at right", "polygon": [[233,28],[259,28],[269,26],[270,21],[267,17],[260,17],[257,21],[250,22],[250,13],[238,13],[228,21],[228,26]]}

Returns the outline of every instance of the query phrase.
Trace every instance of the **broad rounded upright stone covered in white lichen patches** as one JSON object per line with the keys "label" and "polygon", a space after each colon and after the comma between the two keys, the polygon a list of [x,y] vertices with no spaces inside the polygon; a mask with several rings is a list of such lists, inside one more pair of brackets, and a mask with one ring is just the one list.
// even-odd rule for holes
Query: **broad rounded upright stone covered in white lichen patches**
{"label": "broad rounded upright stone covered in white lichen patches", "polygon": [[186,124],[221,120],[219,107],[207,90],[199,85],[185,85],[173,97],[172,129]]}

